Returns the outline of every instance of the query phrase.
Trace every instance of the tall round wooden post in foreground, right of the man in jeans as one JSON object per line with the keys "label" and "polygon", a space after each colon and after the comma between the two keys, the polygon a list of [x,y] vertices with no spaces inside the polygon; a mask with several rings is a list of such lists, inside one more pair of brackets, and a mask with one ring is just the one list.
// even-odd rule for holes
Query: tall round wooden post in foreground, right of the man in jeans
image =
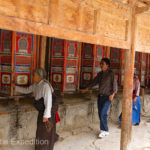
{"label": "tall round wooden post in foreground, right of the man in jeans", "polygon": [[136,9],[132,8],[131,18],[131,49],[126,50],[124,88],[122,102],[121,121],[121,143],[120,150],[131,149],[132,139],[132,92],[133,92],[133,70],[135,59],[135,30],[136,30]]}

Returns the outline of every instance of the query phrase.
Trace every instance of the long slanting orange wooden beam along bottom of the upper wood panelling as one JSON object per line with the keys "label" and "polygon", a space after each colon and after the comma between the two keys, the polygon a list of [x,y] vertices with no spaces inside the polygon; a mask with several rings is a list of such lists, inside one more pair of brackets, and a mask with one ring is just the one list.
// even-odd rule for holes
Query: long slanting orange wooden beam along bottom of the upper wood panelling
{"label": "long slanting orange wooden beam along bottom of the upper wood panelling", "polygon": [[[97,45],[105,45],[117,48],[130,48],[129,40],[117,40],[111,37],[103,36],[101,34],[93,34],[87,32],[80,32],[63,28],[61,26],[54,26],[53,24],[44,24],[32,22],[29,20],[18,19],[13,17],[0,15],[0,28],[6,30],[16,30],[19,32],[32,33],[36,35],[43,35],[48,37],[69,39],[73,41],[93,43]],[[15,27],[15,28],[14,28]]]}

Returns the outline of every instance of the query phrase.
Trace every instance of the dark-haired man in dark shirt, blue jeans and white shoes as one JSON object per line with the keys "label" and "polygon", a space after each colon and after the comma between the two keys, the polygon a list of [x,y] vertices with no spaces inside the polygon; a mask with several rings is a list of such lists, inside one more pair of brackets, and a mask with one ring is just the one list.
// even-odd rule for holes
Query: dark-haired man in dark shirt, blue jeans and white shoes
{"label": "dark-haired man in dark shirt, blue jeans and white shoes", "polygon": [[117,82],[114,77],[113,71],[110,69],[110,60],[108,58],[102,58],[100,62],[102,71],[100,71],[93,81],[88,85],[88,88],[82,90],[86,92],[93,86],[99,84],[99,95],[98,95],[98,115],[100,119],[100,138],[109,135],[107,125],[107,111],[117,93]]}

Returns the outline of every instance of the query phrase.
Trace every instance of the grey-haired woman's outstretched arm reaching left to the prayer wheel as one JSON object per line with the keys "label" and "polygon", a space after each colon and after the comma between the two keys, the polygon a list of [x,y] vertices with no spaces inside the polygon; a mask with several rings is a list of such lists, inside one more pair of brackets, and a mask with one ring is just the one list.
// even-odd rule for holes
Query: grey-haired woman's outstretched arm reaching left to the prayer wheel
{"label": "grey-haired woman's outstretched arm reaching left to the prayer wheel", "polygon": [[15,86],[15,91],[22,93],[22,94],[30,94],[33,92],[34,85],[30,85],[29,87],[20,87],[20,86]]}

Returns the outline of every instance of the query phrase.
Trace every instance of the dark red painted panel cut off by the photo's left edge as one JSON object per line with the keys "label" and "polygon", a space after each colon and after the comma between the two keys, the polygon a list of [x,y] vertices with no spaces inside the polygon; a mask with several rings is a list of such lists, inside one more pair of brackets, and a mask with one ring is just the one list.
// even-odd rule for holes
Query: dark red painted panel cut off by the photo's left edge
{"label": "dark red painted panel cut off by the photo's left edge", "polygon": [[2,93],[10,93],[11,90],[11,53],[12,32],[1,30],[0,40],[0,90]]}

